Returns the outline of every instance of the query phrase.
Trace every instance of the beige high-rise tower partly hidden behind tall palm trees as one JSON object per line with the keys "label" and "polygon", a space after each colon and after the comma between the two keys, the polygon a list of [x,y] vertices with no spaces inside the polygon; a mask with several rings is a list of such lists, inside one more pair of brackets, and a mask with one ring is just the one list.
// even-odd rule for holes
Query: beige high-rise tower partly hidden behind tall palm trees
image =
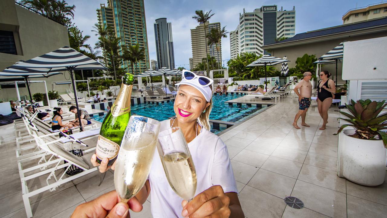
{"label": "beige high-rise tower partly hidden behind tall palm trees", "polygon": [[[215,23],[205,23],[205,31],[209,33],[211,29],[217,28],[220,30],[220,22]],[[207,39],[208,43],[208,39]],[[221,43],[218,44],[219,52],[216,50],[216,45],[211,46],[205,44],[205,32],[204,24],[200,24],[195,29],[191,29],[191,44],[192,44],[192,66],[196,67],[197,64],[202,62],[202,59],[205,58],[205,47],[207,47],[208,54],[210,57],[217,59],[217,62],[222,61],[222,46]]]}

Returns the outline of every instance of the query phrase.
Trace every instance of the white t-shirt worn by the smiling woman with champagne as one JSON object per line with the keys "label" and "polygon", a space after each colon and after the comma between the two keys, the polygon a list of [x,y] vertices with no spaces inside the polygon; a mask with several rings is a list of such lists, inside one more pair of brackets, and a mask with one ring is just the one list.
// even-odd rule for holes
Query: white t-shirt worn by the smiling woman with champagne
{"label": "white t-shirt worn by the smiling woman with champagne", "polygon": [[[160,132],[171,128],[170,120],[161,122]],[[227,147],[214,133],[202,129],[188,148],[195,164],[197,188],[195,196],[213,185],[221,185],[224,192],[236,192],[236,182]],[[182,217],[182,201],[170,187],[159,153],[154,153],[151,172],[151,209],[154,218]]]}

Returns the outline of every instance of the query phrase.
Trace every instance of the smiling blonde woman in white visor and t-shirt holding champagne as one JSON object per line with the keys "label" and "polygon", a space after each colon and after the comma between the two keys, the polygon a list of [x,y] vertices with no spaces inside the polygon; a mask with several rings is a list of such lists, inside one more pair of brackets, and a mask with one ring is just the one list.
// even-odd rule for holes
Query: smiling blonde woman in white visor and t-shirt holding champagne
{"label": "smiling blonde woman in white visor and t-shirt holding champagne", "polygon": [[[170,188],[156,151],[149,178],[135,198],[130,199],[129,206],[143,204],[151,193],[155,218],[244,217],[227,147],[221,138],[209,131],[212,83],[210,78],[183,70],[182,81],[176,84],[178,92],[173,106],[176,118],[164,120],[160,126],[160,131],[176,126],[182,129],[197,173],[194,199],[188,203]],[[99,165],[95,154],[91,161],[94,166]],[[101,172],[109,169],[107,163],[107,159],[102,161]]]}

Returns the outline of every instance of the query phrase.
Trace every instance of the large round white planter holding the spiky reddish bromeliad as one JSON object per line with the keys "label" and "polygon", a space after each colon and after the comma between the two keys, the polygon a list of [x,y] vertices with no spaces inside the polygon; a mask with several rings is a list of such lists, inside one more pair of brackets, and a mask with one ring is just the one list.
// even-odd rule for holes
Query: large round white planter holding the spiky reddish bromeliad
{"label": "large round white planter holding the spiky reddish bromeliad", "polygon": [[339,134],[337,175],[354,183],[376,186],[384,182],[386,155],[382,140],[353,138],[355,130]]}

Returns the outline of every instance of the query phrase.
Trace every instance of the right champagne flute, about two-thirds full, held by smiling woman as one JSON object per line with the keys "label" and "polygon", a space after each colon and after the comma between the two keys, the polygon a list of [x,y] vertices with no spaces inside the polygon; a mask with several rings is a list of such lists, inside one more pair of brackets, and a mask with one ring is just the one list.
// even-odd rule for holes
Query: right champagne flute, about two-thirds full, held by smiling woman
{"label": "right champagne flute, about two-thirds full, held by smiling woman", "polygon": [[180,127],[160,132],[157,150],[171,188],[181,198],[191,201],[196,192],[196,170]]}

